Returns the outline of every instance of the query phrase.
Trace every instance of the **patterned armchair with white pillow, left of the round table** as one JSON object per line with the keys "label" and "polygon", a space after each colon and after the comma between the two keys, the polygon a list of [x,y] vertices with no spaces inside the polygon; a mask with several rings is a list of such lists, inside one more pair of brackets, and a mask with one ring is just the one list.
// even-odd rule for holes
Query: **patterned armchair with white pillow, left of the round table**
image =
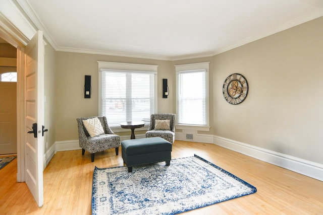
{"label": "patterned armchair with white pillow, left of the round table", "polygon": [[[98,123],[97,119],[95,119],[97,124],[92,123],[91,124],[92,127],[94,127],[95,129],[99,127],[101,130],[101,132],[98,132],[95,134],[93,134],[91,130],[88,131],[83,123],[83,120],[87,120],[87,121],[90,120],[90,122],[93,122],[94,118],[97,118],[100,124]],[[83,118],[78,118],[76,120],[77,120],[78,132],[79,132],[80,147],[82,148],[82,155],[84,155],[85,151],[91,153],[91,161],[94,162],[94,154],[96,152],[101,152],[104,150],[115,148],[116,155],[119,154],[119,147],[121,145],[120,136],[116,135],[110,129],[109,125],[107,124],[105,116],[83,117]],[[86,125],[88,126],[87,121],[85,122],[86,122]],[[92,136],[90,135],[89,132],[91,133]]]}

